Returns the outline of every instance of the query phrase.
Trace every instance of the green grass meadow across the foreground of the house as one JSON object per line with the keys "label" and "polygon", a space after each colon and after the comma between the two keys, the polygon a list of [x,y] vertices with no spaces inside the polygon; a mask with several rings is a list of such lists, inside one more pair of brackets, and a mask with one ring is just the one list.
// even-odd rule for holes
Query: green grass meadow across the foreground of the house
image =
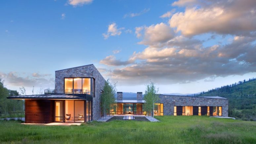
{"label": "green grass meadow across the foreground of the house", "polygon": [[206,116],[158,116],[161,122],[91,122],[81,126],[0,121],[0,143],[256,143],[256,122]]}

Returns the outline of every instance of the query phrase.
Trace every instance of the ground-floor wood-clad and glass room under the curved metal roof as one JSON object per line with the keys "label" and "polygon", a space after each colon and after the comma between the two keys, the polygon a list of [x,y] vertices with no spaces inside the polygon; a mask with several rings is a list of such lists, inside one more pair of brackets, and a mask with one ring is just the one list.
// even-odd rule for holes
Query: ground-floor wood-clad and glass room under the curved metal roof
{"label": "ground-floor wood-clad and glass room under the curved metal roof", "polygon": [[92,121],[90,95],[40,94],[12,96],[25,100],[25,123],[85,123]]}

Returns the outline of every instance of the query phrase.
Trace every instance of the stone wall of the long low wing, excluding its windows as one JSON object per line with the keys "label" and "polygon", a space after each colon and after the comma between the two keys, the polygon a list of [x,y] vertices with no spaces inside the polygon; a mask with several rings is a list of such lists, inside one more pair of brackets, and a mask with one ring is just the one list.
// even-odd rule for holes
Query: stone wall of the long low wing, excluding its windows
{"label": "stone wall of the long low wing, excluding its windows", "polygon": [[222,106],[222,116],[228,117],[228,99],[162,94],[159,98],[158,103],[164,104],[164,115],[173,115],[174,106]]}

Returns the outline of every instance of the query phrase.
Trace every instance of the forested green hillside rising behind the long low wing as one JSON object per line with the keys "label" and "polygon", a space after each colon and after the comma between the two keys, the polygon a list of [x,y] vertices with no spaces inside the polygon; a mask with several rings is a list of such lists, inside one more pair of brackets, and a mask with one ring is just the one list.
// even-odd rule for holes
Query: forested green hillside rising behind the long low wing
{"label": "forested green hillside rising behind the long low wing", "polygon": [[256,78],[195,94],[221,96],[229,99],[229,116],[256,121]]}

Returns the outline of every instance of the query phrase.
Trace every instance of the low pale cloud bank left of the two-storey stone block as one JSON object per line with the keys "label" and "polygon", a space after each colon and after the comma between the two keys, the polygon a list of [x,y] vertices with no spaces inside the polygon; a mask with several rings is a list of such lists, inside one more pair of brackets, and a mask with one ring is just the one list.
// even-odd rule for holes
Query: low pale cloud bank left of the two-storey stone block
{"label": "low pale cloud bank left of the two-storey stone block", "polygon": [[[43,86],[49,87],[54,86],[54,78],[44,78],[44,75],[38,73],[33,73],[31,76],[22,77],[19,76],[17,72],[1,73],[0,75],[5,80],[5,84],[11,86],[24,86],[24,87],[33,87],[33,86]],[[49,76],[47,74],[47,76]]]}

